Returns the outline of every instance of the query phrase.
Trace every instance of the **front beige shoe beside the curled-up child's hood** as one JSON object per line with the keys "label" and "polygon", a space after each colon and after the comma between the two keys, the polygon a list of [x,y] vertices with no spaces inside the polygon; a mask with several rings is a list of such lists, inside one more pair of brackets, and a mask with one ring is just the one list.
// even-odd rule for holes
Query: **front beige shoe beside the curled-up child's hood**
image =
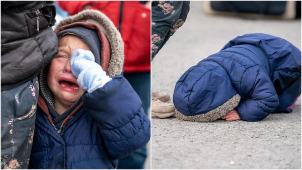
{"label": "front beige shoe beside the curled-up child's hood", "polygon": [[164,103],[155,97],[152,97],[151,113],[152,118],[162,119],[175,115],[175,107],[171,103]]}

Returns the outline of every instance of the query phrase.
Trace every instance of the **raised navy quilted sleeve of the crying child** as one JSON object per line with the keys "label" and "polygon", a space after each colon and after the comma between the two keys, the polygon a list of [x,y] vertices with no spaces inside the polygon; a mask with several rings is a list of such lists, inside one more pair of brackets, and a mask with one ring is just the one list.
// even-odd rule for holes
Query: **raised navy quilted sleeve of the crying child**
{"label": "raised navy quilted sleeve of the crying child", "polygon": [[84,107],[98,122],[111,156],[122,158],[150,139],[150,120],[129,82],[117,75],[83,97]]}

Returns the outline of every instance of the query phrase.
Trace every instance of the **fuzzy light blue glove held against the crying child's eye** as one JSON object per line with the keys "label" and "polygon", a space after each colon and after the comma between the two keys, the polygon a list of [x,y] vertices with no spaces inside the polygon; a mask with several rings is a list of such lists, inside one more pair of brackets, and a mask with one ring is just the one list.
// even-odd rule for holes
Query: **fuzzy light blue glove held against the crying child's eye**
{"label": "fuzzy light blue glove held against the crying child's eye", "polygon": [[95,62],[93,53],[89,50],[77,49],[74,51],[70,61],[72,74],[77,77],[79,86],[92,93],[98,88],[112,80],[103,68]]}

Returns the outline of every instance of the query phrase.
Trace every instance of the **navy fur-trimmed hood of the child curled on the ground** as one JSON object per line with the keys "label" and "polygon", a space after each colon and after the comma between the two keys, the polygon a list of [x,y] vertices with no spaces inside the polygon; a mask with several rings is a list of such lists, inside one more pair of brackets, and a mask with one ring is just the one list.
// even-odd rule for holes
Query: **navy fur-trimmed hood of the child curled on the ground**
{"label": "navy fur-trimmed hood of the child curled on the ground", "polygon": [[226,70],[201,61],[177,81],[173,103],[181,120],[211,122],[237,108],[240,96]]}

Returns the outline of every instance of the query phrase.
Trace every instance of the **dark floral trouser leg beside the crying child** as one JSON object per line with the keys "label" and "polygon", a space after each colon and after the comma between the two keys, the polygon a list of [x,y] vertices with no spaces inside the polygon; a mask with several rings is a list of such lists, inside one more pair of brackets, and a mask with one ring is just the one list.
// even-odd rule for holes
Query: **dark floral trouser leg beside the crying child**
{"label": "dark floral trouser leg beside the crying child", "polygon": [[26,169],[34,137],[38,78],[1,92],[1,168]]}

